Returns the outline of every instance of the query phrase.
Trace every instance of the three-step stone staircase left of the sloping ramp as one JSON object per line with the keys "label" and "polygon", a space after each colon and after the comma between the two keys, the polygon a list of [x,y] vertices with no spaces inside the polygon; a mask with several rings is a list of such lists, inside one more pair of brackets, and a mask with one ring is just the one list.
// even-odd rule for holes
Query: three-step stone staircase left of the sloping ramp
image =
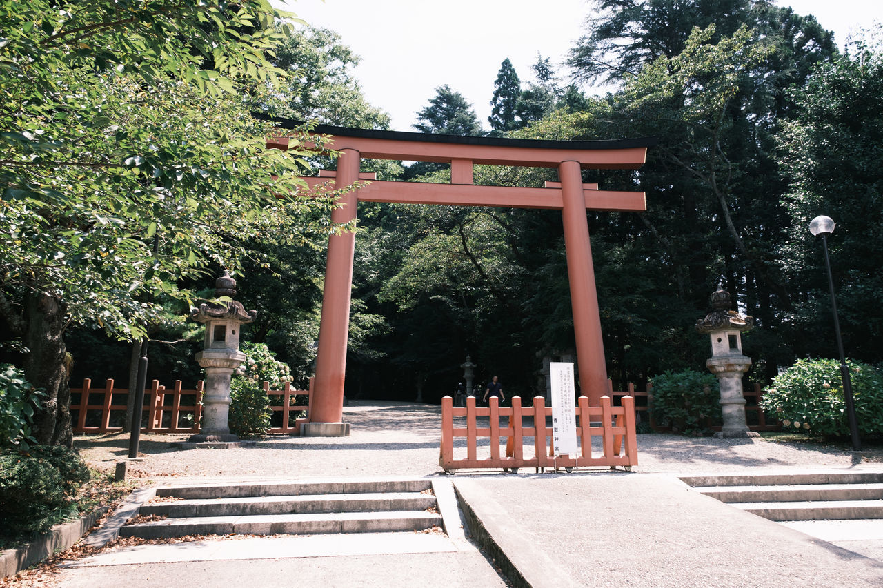
{"label": "three-step stone staircase left of the sloping ramp", "polygon": [[442,527],[429,479],[169,486],[121,537],[425,531]]}

